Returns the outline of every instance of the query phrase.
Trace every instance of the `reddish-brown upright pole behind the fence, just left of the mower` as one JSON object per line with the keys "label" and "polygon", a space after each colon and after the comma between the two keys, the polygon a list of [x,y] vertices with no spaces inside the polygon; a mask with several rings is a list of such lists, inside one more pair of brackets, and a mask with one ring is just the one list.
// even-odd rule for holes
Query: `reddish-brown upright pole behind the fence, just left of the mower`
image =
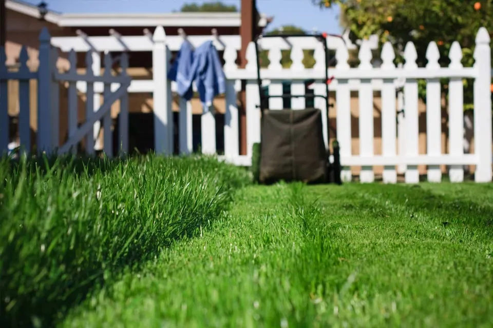
{"label": "reddish-brown upright pole behind the fence, just left of the mower", "polygon": [[[247,54],[247,47],[250,42],[253,41],[255,33],[257,30],[257,9],[255,0],[241,0],[241,26],[240,26],[240,36],[241,36],[241,50],[239,53],[239,65],[240,68],[245,68],[247,65],[247,60],[245,55]],[[241,81],[241,92],[240,92],[240,102],[241,110],[239,113],[239,130],[240,130],[240,155],[247,154],[247,112],[245,111],[245,106],[247,104],[247,98],[245,94],[245,81]]]}

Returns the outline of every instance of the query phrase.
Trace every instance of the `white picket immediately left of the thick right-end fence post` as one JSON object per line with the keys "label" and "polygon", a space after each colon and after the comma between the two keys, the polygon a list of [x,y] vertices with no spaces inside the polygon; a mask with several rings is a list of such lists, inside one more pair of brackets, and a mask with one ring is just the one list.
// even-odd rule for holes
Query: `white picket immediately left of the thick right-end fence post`
{"label": "white picket immediately left of the thick right-end fence post", "polygon": [[[457,41],[452,43],[448,54],[451,69],[462,68],[462,49]],[[461,157],[464,155],[464,84],[462,78],[452,77],[448,85],[448,139],[449,154]],[[451,182],[462,182],[464,180],[464,167],[462,165],[451,165],[449,170]]]}

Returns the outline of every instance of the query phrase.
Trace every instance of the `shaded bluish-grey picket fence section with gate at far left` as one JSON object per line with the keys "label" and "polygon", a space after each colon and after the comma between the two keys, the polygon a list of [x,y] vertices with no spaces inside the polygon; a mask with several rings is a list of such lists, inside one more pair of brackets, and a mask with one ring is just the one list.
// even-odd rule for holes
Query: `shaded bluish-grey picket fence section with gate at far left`
{"label": "shaded bluish-grey picket fence section with gate at far left", "polygon": [[[29,80],[37,80],[37,147],[39,152],[58,154],[75,152],[79,142],[86,138],[88,153],[93,152],[94,135],[93,126],[103,119],[105,131],[111,131],[111,105],[120,99],[120,136],[119,145],[122,151],[128,151],[128,94],[130,77],[126,75],[128,58],[123,54],[120,58],[121,73],[112,74],[113,59],[107,53],[104,58],[105,72],[102,76],[77,73],[77,56],[75,52],[69,53],[70,69],[61,73],[56,68],[59,58],[58,51],[51,45],[51,36],[47,29],[43,29],[39,37],[39,68],[31,72],[28,68],[28,52],[23,47],[19,56],[20,66],[12,71],[6,65],[6,53],[0,47],[0,154],[8,151],[9,144],[9,117],[8,117],[8,80],[18,80],[19,83],[19,138],[21,151],[31,149],[30,145],[30,84]],[[93,56],[90,52],[86,56],[86,66],[92,66]],[[99,57],[98,57],[99,60]],[[86,85],[86,121],[79,126],[78,122],[78,94],[77,83],[81,81]],[[60,145],[60,83],[68,82],[68,140]],[[104,104],[94,102],[94,84],[103,85]],[[118,84],[117,88],[110,88],[112,84]],[[105,152],[112,156],[112,135],[107,133],[104,138]]]}

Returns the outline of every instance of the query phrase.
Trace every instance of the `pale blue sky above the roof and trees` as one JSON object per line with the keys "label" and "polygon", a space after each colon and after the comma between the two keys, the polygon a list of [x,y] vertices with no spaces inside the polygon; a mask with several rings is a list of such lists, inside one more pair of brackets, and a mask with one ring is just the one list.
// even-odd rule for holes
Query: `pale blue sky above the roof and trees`
{"label": "pale blue sky above the roof and trees", "polygon": [[[41,0],[24,0],[37,5]],[[166,13],[179,10],[185,3],[204,3],[206,0],[45,0],[48,8],[63,13]],[[223,0],[240,5],[240,0]],[[274,16],[271,28],[296,25],[305,30],[340,33],[338,8],[319,9],[311,0],[257,0],[260,12]]]}

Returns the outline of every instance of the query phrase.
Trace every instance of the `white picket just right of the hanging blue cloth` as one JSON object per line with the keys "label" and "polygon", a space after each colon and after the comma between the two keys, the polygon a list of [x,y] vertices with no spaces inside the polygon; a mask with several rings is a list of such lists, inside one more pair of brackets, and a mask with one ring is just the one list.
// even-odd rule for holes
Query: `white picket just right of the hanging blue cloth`
{"label": "white picket just right of the hanging blue cloth", "polygon": [[[224,71],[237,70],[237,52],[233,47],[224,50]],[[238,106],[236,104],[235,80],[226,79],[226,113],[224,114],[224,156],[236,158],[239,156],[239,122]]]}

